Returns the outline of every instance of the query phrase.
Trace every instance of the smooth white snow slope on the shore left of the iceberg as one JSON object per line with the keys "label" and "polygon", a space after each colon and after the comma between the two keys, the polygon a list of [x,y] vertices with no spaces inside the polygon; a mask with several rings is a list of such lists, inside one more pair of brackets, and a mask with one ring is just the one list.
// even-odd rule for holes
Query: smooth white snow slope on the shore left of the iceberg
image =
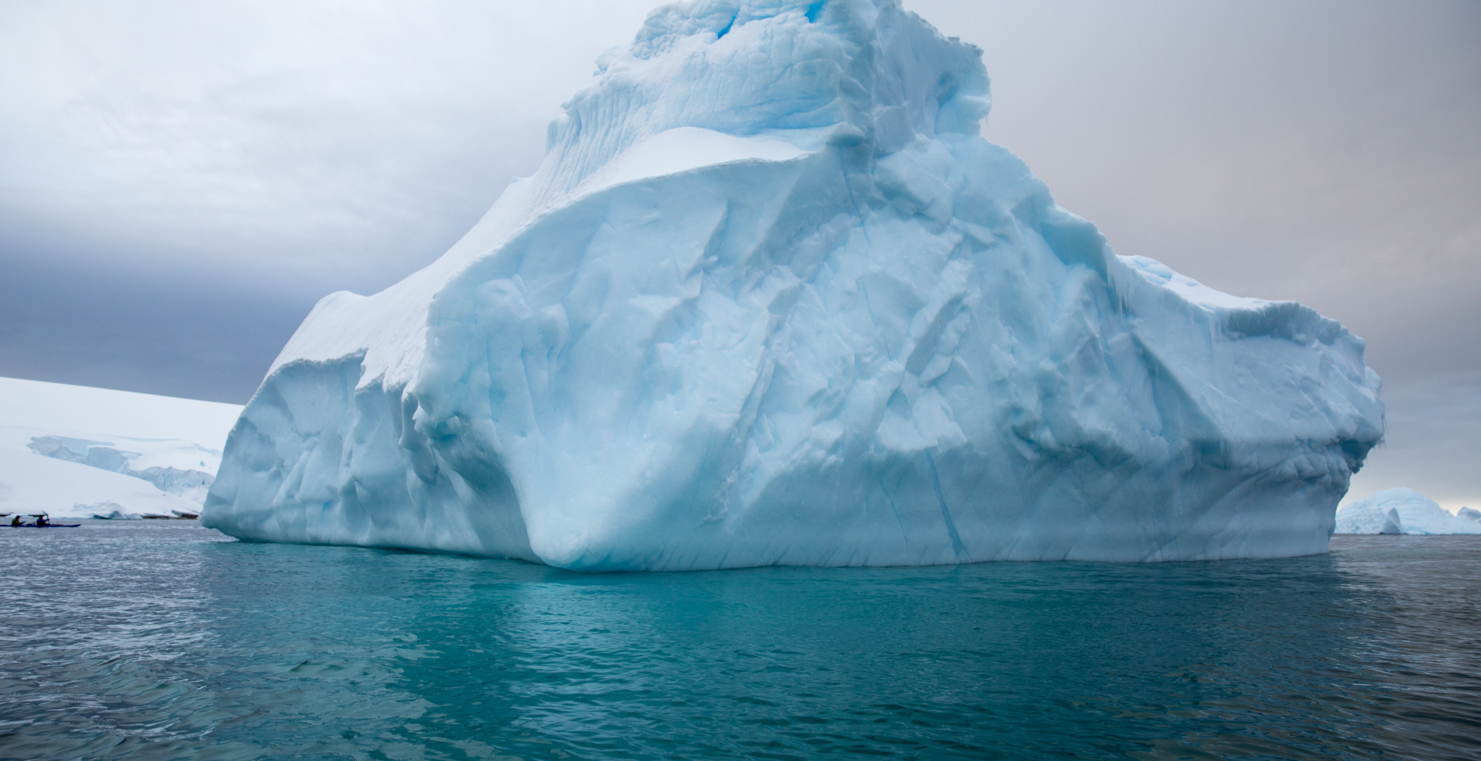
{"label": "smooth white snow slope on the shore left of the iceberg", "polygon": [[[241,407],[0,378],[0,512],[198,512]],[[108,512],[107,509],[102,512]]]}

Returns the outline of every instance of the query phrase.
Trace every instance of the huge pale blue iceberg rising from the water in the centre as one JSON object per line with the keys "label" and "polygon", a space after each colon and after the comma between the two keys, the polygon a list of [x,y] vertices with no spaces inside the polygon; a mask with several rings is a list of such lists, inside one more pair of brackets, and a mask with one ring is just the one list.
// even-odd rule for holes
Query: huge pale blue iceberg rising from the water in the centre
{"label": "huge pale blue iceberg rising from the water in the centre", "polygon": [[1054,204],[895,0],[666,6],[438,262],[335,293],[201,517],[586,570],[1324,552],[1363,342]]}

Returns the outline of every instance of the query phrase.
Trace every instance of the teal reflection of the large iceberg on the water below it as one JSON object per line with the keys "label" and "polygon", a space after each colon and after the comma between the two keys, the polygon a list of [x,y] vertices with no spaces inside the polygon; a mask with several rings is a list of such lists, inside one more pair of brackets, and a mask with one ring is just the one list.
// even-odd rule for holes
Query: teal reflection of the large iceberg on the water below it
{"label": "teal reflection of the large iceberg on the water below it", "polygon": [[[241,545],[218,549],[224,570],[241,566]],[[1167,736],[1222,742],[1269,730],[1280,751],[1294,733],[1339,734],[1312,730],[1288,700],[1361,700],[1351,669],[1370,654],[1355,648],[1383,648],[1385,635],[1349,632],[1351,616],[1392,604],[1330,557],[579,576],[381,551],[250,551],[326,561],[301,576],[321,589],[283,600],[267,597],[284,589],[271,577],[218,576],[228,610],[253,611],[234,631],[281,629],[284,663],[310,663],[290,675],[302,693],[295,712],[323,703],[320,721],[354,724],[354,711],[407,711],[398,723],[437,723],[435,742],[400,737],[407,743],[477,742],[520,758],[551,748],[735,758],[758,743],[816,755],[883,751],[889,739],[930,755],[1028,737],[1046,752],[1136,752],[1149,718]],[[1358,597],[1355,580],[1367,588]],[[293,613],[305,609],[314,614]],[[342,646],[355,638],[369,659]],[[357,674],[373,685],[366,703],[345,691]],[[283,742],[305,731],[286,720],[255,727]]]}

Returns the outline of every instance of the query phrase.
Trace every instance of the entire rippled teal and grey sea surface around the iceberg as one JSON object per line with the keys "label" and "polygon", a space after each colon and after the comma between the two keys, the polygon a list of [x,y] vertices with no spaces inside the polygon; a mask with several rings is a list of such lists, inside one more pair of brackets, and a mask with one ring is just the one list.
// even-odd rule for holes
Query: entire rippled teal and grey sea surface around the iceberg
{"label": "entire rippled teal and grey sea surface around the iceberg", "polygon": [[1481,537],[584,576],[3,530],[0,758],[1481,758]]}

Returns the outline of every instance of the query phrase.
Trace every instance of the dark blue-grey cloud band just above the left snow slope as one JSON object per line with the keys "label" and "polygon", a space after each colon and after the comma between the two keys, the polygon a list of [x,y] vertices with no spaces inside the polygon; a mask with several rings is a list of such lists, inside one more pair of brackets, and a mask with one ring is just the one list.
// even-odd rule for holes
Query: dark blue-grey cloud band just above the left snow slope
{"label": "dark blue-grey cloud band just above the left snow slope", "polygon": [[241,403],[318,298],[44,241],[24,253],[0,249],[0,376]]}

